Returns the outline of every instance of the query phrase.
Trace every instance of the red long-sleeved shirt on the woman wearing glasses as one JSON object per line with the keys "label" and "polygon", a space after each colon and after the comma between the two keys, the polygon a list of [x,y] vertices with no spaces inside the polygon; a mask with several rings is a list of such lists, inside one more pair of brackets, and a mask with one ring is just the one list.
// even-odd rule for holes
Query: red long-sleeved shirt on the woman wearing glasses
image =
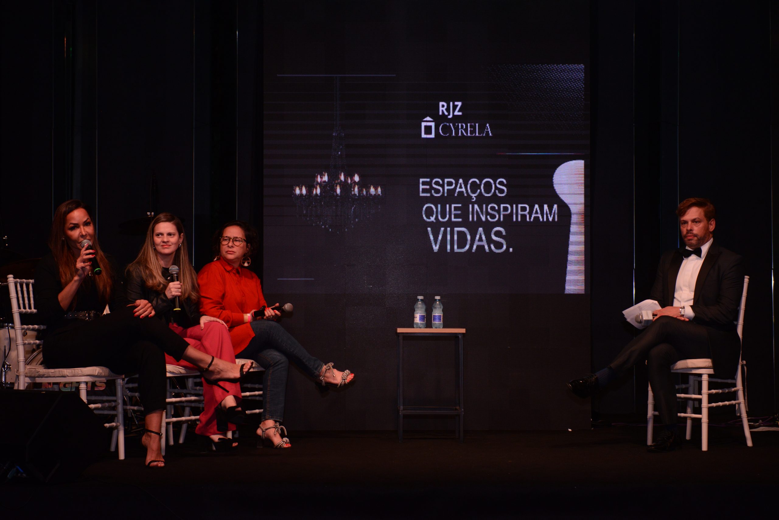
{"label": "red long-sleeved shirt on the woman wearing glasses", "polygon": [[237,355],[254,337],[251,325],[244,323],[244,314],[266,305],[259,278],[249,269],[233,267],[220,256],[203,265],[197,281],[200,312],[227,323]]}

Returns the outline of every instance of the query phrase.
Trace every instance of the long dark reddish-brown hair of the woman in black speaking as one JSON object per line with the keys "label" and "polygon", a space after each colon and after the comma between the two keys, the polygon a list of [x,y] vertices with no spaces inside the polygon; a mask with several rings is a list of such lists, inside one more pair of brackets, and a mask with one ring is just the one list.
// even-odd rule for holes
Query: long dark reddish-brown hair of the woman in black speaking
{"label": "long dark reddish-brown hair of the woman in black speaking", "polygon": [[[73,257],[72,250],[65,237],[65,221],[70,213],[76,211],[76,209],[84,209],[92,220],[93,230],[97,230],[95,220],[92,216],[92,209],[86,206],[83,202],[77,199],[62,202],[57,207],[54,213],[54,220],[51,222],[51,233],[49,233],[49,249],[51,254],[54,255],[55,262],[59,267],[59,281],[62,286],[65,287],[76,276],[76,258]],[[114,270],[111,268],[111,263],[105,258],[103,250],[100,249],[100,242],[97,241],[97,232],[93,232],[92,235],[92,248],[95,251],[95,257],[100,267],[103,269],[103,273],[100,276],[90,276],[85,279],[83,283],[90,283],[90,279],[94,279],[97,285],[97,293],[100,295],[100,301],[104,304],[108,304],[111,300],[111,293],[114,289]],[[73,299],[75,306],[76,299]]]}

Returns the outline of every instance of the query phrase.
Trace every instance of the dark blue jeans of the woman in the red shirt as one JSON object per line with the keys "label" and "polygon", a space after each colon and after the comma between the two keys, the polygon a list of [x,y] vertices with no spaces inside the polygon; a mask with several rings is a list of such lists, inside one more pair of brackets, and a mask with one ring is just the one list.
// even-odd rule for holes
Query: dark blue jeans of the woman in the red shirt
{"label": "dark blue jeans of the woman in the red shirt", "polygon": [[235,357],[255,360],[263,375],[263,420],[284,420],[284,396],[291,361],[312,378],[319,378],[325,364],[306,352],[284,327],[273,320],[252,321],[254,337]]}

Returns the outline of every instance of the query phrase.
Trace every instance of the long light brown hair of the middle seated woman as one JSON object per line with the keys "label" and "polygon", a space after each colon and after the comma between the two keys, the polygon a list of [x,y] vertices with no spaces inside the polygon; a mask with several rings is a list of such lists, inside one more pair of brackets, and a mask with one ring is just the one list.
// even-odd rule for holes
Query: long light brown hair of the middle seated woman
{"label": "long light brown hair of the middle seated woman", "polygon": [[158,293],[164,293],[167,288],[167,280],[162,277],[162,264],[160,258],[157,258],[157,251],[154,250],[154,228],[157,224],[170,222],[182,236],[182,247],[176,249],[173,257],[173,264],[178,265],[178,281],[182,283],[182,298],[189,298],[197,301],[200,297],[200,291],[197,285],[197,274],[192,264],[189,263],[189,248],[187,248],[187,236],[184,234],[184,225],[178,216],[172,213],[160,213],[154,217],[146,230],[146,241],[143,248],[138,253],[138,257],[127,266],[128,275],[136,274],[143,279],[146,286]]}

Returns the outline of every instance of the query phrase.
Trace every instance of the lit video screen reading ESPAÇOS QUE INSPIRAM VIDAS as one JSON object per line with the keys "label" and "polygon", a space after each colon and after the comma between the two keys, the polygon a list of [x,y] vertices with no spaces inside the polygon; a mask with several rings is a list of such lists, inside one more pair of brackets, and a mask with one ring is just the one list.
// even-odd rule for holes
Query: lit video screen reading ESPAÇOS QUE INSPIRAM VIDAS
{"label": "lit video screen reading ESPA\u00c7OS QUE INSPIRAM VIDAS", "polygon": [[264,108],[280,292],[587,291],[583,65],[278,75]]}

